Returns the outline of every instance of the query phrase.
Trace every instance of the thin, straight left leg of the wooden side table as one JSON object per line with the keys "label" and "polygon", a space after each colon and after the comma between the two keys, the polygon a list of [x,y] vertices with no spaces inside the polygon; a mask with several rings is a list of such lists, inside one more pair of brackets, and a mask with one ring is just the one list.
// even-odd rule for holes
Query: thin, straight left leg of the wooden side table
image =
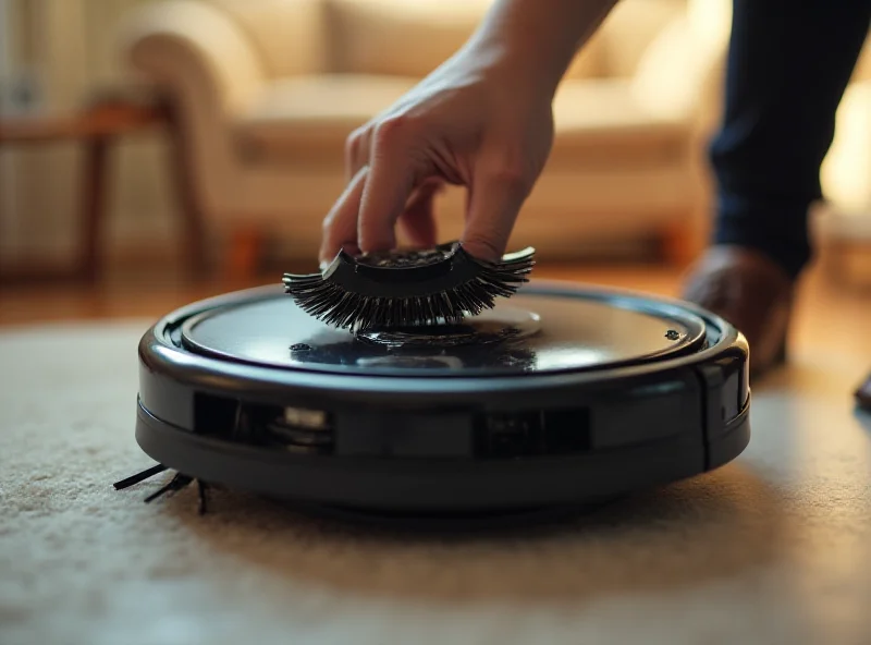
{"label": "thin, straight left leg of the wooden side table", "polygon": [[89,138],[85,146],[78,275],[89,283],[96,282],[100,272],[108,146],[108,139],[101,136]]}

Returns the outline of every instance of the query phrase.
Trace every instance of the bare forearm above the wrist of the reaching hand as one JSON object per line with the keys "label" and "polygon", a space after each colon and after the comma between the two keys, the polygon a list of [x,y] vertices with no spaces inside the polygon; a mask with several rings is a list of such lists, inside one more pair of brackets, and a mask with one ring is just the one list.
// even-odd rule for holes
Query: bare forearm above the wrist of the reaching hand
{"label": "bare forearm above the wrist of the reaching hand", "polygon": [[496,0],[469,46],[555,92],[577,51],[618,0]]}

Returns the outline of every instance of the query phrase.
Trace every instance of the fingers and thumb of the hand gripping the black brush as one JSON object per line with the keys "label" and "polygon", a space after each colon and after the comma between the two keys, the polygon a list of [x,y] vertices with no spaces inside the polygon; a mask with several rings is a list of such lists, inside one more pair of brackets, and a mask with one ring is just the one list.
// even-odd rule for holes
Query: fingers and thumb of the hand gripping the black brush
{"label": "fingers and thumb of the hand gripping the black brush", "polygon": [[[397,220],[415,246],[436,243],[432,205],[441,180],[443,180],[444,170],[437,172],[437,162],[428,161],[422,138],[429,137],[419,125],[407,115],[391,117],[348,137],[345,170],[352,179],[324,221],[321,261],[330,261],[342,247],[355,253],[394,248]],[[469,199],[462,242],[474,256],[498,261],[533,178],[527,162],[515,161],[524,158],[516,150],[506,155],[487,148],[471,181],[463,181]]]}

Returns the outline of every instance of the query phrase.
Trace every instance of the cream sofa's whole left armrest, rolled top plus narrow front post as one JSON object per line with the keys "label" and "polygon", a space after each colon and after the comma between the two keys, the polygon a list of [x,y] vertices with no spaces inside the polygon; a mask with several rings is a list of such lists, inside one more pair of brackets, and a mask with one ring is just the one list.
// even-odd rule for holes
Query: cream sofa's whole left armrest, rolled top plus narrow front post
{"label": "cream sofa's whole left armrest, rolled top plus narrow front post", "polygon": [[176,110],[194,199],[210,219],[226,217],[242,181],[230,124],[265,83],[255,49],[229,14],[197,0],[146,4],[120,36],[124,58]]}

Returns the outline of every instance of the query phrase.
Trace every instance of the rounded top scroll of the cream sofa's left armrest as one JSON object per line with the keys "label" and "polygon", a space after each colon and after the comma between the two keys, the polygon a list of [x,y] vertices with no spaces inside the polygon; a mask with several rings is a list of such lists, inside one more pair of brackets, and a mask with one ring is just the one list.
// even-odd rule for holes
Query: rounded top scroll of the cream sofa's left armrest
{"label": "rounded top scroll of the cream sofa's left armrest", "polygon": [[243,109],[263,83],[262,61],[242,27],[203,1],[168,0],[134,11],[121,46],[150,85],[224,115]]}

